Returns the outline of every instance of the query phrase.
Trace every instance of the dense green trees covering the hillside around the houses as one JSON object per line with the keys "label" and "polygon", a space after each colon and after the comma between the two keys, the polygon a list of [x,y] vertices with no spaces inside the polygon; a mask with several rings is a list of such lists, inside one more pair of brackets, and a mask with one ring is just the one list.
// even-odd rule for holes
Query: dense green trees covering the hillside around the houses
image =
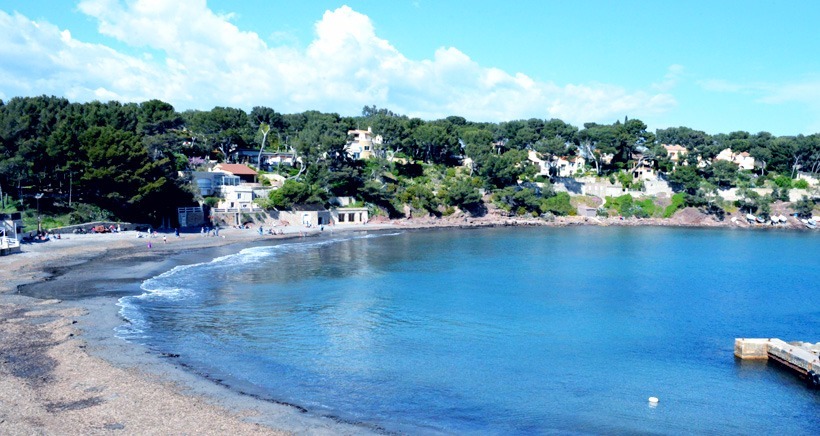
{"label": "dense green trees covering the hillside around the houses", "polygon": [[[354,160],[345,153],[348,131],[368,127],[383,144],[376,157]],[[686,147],[689,165],[674,165],[662,144]],[[282,114],[264,106],[250,112],[231,107],[178,112],[159,100],[72,103],[54,96],[15,97],[0,101],[0,209],[37,208],[38,215],[67,217],[58,220],[63,224],[157,223],[177,207],[202,201],[186,174],[243,148],[292,151],[299,157],[298,167],[279,170],[289,179],[262,199],[266,207],[353,196],[391,217],[402,216],[406,206],[438,216],[455,208],[478,215],[484,210],[482,194],[511,213],[573,213],[569,197],[537,175],[528,150],[547,161],[583,156],[587,175],[610,180],[636,159],[650,158],[680,191],[681,205],[707,212],[720,208],[710,197],[717,189],[774,186],[781,190],[773,194],[776,200],[783,190],[803,187],[805,181],[796,180],[799,173],[820,172],[818,134],[710,135],[689,127],[650,132],[636,118],[578,127],[537,118],[422,120],[375,106],[348,117]],[[754,170],[713,162],[725,148],[753,156]],[[35,201],[37,194],[42,196]],[[805,207],[814,206],[807,201]]]}

